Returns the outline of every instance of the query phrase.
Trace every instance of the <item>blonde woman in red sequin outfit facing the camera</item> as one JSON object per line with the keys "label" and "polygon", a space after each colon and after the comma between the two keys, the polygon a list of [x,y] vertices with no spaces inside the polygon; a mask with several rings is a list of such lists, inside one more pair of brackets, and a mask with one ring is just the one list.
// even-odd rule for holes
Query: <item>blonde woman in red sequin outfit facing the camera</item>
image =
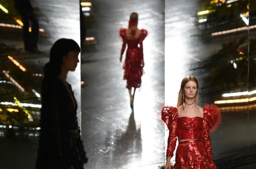
{"label": "blonde woman in red sequin outfit facing the camera", "polygon": [[216,105],[197,105],[198,81],[194,76],[185,77],[180,86],[177,107],[162,109],[162,120],[169,129],[165,169],[171,169],[170,160],[176,147],[174,169],[216,169],[212,159],[210,132],[221,123]]}

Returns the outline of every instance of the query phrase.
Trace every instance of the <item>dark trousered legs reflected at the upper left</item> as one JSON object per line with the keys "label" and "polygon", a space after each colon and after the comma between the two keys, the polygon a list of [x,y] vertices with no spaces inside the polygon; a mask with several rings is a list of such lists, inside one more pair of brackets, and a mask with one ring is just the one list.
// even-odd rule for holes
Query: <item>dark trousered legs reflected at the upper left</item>
{"label": "dark trousered legs reflected at the upper left", "polygon": [[[23,42],[26,51],[35,52],[39,34],[39,25],[29,0],[14,0],[15,8],[19,11],[23,22]],[[29,21],[32,23],[29,32]]]}

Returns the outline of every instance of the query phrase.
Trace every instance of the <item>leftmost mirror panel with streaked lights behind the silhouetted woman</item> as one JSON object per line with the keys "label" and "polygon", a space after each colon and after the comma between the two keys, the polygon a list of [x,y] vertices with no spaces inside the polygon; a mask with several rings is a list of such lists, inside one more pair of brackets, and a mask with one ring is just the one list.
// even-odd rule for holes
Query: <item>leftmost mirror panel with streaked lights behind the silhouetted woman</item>
{"label": "leftmost mirror panel with streaked lights behind the silhouetted woman", "polygon": [[[0,156],[1,168],[34,168],[43,66],[57,39],[72,38],[80,44],[78,0],[31,0],[32,7],[20,2],[24,1],[0,2],[0,148],[5,152]],[[67,15],[69,12],[72,15]],[[32,19],[26,22],[27,17]],[[68,74],[67,81],[74,90],[80,116],[79,68]]]}

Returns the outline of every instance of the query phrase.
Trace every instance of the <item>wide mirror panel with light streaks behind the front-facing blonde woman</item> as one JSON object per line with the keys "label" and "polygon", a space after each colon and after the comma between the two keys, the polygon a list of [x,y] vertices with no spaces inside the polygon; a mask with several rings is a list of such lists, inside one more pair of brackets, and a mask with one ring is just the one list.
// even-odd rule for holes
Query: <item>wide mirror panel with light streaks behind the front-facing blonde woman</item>
{"label": "wide mirror panel with light streaks behind the front-facing blonde woman", "polygon": [[246,166],[249,1],[166,1],[165,7],[166,103],[175,106],[182,78],[197,77],[198,105],[215,103],[222,112],[211,133],[215,164]]}

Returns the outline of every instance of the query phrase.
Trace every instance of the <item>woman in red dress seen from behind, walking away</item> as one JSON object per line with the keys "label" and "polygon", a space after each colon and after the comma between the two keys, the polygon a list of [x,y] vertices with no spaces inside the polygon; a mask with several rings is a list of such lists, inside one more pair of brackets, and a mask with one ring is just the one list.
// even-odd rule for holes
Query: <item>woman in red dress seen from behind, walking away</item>
{"label": "woman in red dress seen from behind, walking away", "polygon": [[[128,29],[122,28],[119,31],[119,34],[123,39],[120,62],[122,62],[122,55],[124,54],[126,44],[128,45],[123,69],[124,69],[124,80],[127,80],[126,87],[129,90],[130,105],[132,109],[133,109],[133,100],[134,100],[136,88],[141,86],[141,76],[143,75],[143,67],[144,67],[142,42],[147,36],[147,31],[145,29],[139,30],[137,28],[137,25],[138,25],[138,14],[136,12],[133,12],[130,15]],[[132,94],[132,87],[133,87],[133,94]]]}

